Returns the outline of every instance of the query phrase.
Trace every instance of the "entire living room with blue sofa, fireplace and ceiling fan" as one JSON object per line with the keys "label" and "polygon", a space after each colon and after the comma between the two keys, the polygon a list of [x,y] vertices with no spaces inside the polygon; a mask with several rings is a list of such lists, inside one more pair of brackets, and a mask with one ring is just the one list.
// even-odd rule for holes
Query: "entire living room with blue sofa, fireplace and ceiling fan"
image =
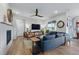
{"label": "entire living room with blue sofa, fireplace and ceiling fan", "polygon": [[[78,54],[78,5],[78,3],[0,4],[0,54]],[[77,48],[73,47],[70,51],[75,45]]]}

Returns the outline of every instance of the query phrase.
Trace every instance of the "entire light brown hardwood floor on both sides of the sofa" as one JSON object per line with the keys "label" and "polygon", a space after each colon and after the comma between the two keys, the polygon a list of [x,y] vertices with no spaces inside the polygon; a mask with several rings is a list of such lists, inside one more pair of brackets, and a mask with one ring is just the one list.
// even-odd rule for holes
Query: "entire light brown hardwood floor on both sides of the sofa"
{"label": "entire light brown hardwood floor on both sides of the sofa", "polygon": [[[23,43],[24,39],[16,39],[13,41],[10,49],[8,50],[8,55],[31,55],[32,50],[26,49]],[[57,47],[56,49],[45,51],[39,55],[78,55],[79,54],[79,40],[74,39],[70,44],[66,43],[65,46]]]}

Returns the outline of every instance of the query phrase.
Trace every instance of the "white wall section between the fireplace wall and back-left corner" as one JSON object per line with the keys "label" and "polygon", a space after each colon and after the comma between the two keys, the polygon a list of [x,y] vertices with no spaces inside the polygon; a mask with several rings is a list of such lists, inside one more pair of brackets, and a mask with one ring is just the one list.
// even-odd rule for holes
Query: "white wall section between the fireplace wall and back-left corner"
{"label": "white wall section between the fireplace wall and back-left corner", "polygon": [[14,27],[14,37],[23,36],[24,32],[24,19],[20,16],[14,14],[13,17],[13,27]]}

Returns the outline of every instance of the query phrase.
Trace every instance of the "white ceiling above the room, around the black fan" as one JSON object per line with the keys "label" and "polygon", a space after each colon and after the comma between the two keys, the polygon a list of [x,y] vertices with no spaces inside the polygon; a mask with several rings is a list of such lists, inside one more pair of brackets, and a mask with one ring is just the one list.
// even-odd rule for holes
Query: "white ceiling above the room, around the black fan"
{"label": "white ceiling above the room, around the black fan", "polygon": [[78,3],[10,3],[9,6],[16,11],[17,14],[30,17],[35,14],[35,9],[39,10],[39,14],[46,17],[54,16],[56,13],[67,12],[69,10],[79,10]]}

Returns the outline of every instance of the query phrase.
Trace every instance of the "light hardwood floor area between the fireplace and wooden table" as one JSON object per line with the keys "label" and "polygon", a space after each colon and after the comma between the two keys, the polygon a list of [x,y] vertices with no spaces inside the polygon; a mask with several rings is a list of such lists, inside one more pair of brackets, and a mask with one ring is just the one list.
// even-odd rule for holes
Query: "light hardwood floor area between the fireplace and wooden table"
{"label": "light hardwood floor area between the fireplace and wooden table", "polygon": [[27,46],[24,45],[24,40],[26,39],[23,37],[19,37],[14,40],[7,52],[7,55],[31,55],[32,49],[27,48]]}

